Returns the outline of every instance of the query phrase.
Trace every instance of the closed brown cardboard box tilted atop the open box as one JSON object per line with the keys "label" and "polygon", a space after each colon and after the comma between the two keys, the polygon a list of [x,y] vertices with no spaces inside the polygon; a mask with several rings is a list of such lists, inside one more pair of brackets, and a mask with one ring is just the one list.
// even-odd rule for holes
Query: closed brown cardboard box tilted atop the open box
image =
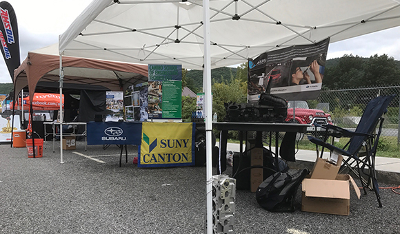
{"label": "closed brown cardboard box tilted atop the open box", "polygon": [[337,161],[336,164],[332,164],[329,160],[324,158],[317,158],[311,171],[311,178],[334,180],[337,173],[339,173],[342,160],[343,157],[340,154],[337,154],[335,157],[335,161]]}

